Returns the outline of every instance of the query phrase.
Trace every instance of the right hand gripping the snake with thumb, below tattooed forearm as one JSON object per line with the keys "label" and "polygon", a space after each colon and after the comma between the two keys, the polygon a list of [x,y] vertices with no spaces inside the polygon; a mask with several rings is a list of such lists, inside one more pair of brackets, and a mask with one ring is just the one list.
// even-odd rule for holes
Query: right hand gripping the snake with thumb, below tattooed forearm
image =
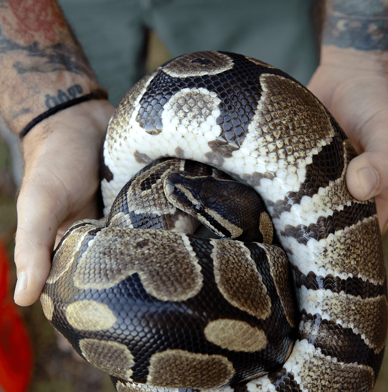
{"label": "right hand gripping the snake with thumb, below tattooed forearm", "polygon": [[359,156],[346,183],[358,200],[375,197],[380,229],[388,220],[387,59],[372,51],[323,46],[308,89],[329,109]]}

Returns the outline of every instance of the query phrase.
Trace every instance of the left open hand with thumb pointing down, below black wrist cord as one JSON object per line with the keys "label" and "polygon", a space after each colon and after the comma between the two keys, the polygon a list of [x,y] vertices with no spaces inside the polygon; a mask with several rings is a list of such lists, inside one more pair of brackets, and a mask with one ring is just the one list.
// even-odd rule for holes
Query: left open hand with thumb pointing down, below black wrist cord
{"label": "left open hand with thumb pointing down, below black wrist cord", "polygon": [[15,238],[18,305],[39,298],[54,241],[74,221],[98,217],[99,160],[113,109],[105,100],[74,105],[37,124],[23,140]]}

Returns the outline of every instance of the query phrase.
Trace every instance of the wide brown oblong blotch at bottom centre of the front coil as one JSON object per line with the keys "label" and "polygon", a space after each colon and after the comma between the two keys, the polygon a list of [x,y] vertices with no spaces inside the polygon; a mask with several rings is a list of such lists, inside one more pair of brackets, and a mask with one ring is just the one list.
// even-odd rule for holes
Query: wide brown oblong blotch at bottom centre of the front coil
{"label": "wide brown oblong blotch at bottom centre of the front coil", "polygon": [[172,388],[207,389],[227,384],[236,370],[222,355],[165,350],[153,354],[147,383]]}

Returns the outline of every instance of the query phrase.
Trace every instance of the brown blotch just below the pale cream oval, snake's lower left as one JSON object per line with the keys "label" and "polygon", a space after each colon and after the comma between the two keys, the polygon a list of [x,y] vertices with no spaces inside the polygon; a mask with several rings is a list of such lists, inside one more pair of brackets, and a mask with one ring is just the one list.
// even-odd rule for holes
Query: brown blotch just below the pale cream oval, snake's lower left
{"label": "brown blotch just below the pale cream oval, snake's lower left", "polygon": [[135,364],[128,347],[111,340],[80,339],[82,355],[96,368],[123,379],[132,376]]}

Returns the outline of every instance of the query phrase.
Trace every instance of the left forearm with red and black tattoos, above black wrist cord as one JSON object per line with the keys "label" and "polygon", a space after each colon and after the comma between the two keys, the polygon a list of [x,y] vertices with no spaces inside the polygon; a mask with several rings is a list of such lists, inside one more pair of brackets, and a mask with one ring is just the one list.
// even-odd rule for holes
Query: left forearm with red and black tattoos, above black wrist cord
{"label": "left forearm with red and black tattoos, above black wrist cord", "polygon": [[101,87],[54,0],[0,7],[0,110],[19,134],[51,107]]}

